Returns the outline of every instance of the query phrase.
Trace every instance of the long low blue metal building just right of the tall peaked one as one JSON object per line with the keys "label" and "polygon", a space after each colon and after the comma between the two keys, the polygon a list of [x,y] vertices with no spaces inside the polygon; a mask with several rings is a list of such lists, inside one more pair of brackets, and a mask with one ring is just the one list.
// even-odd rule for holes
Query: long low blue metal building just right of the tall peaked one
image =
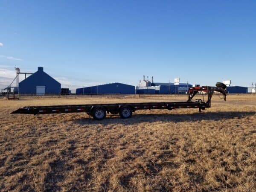
{"label": "long low blue metal building just right of the tall peaked one", "polygon": [[76,89],[76,94],[135,94],[135,86],[122,83],[109,83]]}

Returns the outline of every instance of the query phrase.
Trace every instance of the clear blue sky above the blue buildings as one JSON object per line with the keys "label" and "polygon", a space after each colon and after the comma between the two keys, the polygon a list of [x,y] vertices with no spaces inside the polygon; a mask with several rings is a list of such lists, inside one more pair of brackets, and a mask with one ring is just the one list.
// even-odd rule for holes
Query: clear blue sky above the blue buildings
{"label": "clear blue sky above the blue buildings", "polygon": [[137,85],[143,75],[250,86],[256,1],[0,0],[0,68],[14,66],[42,66],[71,87]]}

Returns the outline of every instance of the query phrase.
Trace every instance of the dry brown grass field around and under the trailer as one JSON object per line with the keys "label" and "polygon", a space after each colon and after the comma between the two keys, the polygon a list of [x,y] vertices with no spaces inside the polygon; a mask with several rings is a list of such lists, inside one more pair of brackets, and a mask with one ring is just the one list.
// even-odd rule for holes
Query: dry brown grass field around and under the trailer
{"label": "dry brown grass field around and under the trailer", "polygon": [[212,108],[10,114],[29,105],[187,97],[31,97],[0,100],[1,191],[256,191],[256,95],[213,96]]}

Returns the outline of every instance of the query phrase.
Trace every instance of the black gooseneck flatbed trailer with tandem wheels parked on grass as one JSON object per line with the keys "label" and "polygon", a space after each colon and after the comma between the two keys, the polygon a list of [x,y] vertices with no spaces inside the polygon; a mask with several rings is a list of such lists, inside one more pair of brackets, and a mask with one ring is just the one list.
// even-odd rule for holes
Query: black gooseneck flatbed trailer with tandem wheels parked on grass
{"label": "black gooseneck flatbed trailer with tandem wheels parked on grass", "polygon": [[[86,112],[89,116],[93,116],[96,120],[102,120],[105,118],[106,113],[118,114],[126,119],[131,117],[132,113],[136,110],[145,109],[180,109],[180,108],[198,108],[199,112],[205,108],[211,107],[212,95],[215,92],[219,92],[224,96],[226,101],[226,85],[217,83],[216,87],[202,86],[202,87],[190,87],[189,99],[186,102],[143,102],[143,103],[116,103],[116,104],[88,104],[88,105],[53,105],[53,106],[28,106],[20,108],[14,113],[22,114],[50,114],[50,113],[79,113]],[[204,102],[201,99],[195,99],[193,97],[198,93],[207,93],[207,101]]]}

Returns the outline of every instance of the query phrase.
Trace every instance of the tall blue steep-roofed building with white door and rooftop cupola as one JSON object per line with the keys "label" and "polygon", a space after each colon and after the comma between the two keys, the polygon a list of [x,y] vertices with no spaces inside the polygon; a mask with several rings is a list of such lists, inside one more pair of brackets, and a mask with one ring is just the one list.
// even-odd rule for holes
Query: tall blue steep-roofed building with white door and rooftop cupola
{"label": "tall blue steep-roofed building with white door and rooftop cupola", "polygon": [[19,83],[20,94],[61,94],[61,84],[44,72],[43,67]]}

